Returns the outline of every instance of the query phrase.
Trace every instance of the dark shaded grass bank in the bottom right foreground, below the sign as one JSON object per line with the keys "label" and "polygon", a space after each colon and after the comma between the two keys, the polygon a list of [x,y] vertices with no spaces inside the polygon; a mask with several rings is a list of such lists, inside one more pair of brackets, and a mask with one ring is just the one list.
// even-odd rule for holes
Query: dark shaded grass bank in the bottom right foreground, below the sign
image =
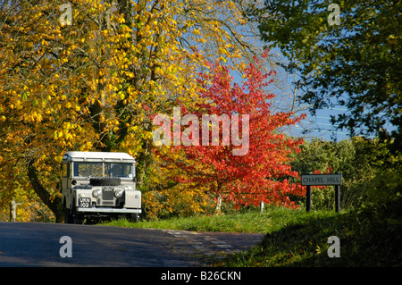
{"label": "dark shaded grass bank in the bottom right foreground, below the sign", "polygon": [[[303,214],[302,214],[303,216]],[[261,244],[217,264],[230,267],[400,267],[402,221],[366,211],[301,217],[268,233]],[[340,240],[329,257],[328,238]]]}

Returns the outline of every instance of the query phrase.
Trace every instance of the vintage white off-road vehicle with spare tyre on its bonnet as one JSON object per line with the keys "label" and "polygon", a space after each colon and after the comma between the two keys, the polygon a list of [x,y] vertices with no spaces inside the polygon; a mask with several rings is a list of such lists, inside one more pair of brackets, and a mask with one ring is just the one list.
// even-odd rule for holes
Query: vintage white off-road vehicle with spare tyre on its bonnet
{"label": "vintage white off-road vehicle with spare tyre on its bonnet", "polygon": [[138,220],[135,160],[124,153],[71,151],[63,156],[65,221],[127,216]]}

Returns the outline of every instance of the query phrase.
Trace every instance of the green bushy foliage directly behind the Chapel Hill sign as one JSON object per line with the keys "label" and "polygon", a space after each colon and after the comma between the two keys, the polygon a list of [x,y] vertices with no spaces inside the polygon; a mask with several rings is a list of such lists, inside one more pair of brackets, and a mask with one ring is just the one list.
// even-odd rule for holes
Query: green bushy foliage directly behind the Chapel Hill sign
{"label": "green bushy foliage directly behind the Chapel Hill sign", "polygon": [[[314,138],[305,142],[300,154],[294,155],[292,167],[299,173],[328,169],[342,173],[341,207],[345,209],[373,199],[373,188],[378,186],[374,181],[380,180],[384,169],[397,169],[389,157],[393,156],[379,139],[354,137],[331,142]],[[373,187],[373,183],[377,186]],[[315,208],[332,208],[334,188],[314,189],[312,202]]]}

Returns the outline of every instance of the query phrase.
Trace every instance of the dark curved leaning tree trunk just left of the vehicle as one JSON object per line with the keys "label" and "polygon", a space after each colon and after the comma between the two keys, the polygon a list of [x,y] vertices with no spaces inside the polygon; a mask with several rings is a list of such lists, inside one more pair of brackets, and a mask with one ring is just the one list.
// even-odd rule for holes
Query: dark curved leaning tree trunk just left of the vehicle
{"label": "dark curved leaning tree trunk just left of the vehicle", "polygon": [[28,178],[38,197],[47,205],[55,215],[56,222],[64,222],[64,209],[62,197],[52,197],[50,193],[40,184],[37,175],[37,169],[33,165],[33,160],[28,163]]}

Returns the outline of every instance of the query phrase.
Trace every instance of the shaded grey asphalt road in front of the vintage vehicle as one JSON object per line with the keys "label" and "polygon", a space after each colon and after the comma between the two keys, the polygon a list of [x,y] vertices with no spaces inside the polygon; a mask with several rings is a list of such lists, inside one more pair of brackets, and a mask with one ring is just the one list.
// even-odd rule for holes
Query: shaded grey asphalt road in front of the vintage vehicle
{"label": "shaded grey asphalt road in front of the vintage vehicle", "polygon": [[[62,241],[69,237],[70,242]],[[188,267],[252,247],[263,234],[0,222],[0,267]],[[70,247],[70,251],[68,247]],[[71,257],[62,257],[71,253]]]}

